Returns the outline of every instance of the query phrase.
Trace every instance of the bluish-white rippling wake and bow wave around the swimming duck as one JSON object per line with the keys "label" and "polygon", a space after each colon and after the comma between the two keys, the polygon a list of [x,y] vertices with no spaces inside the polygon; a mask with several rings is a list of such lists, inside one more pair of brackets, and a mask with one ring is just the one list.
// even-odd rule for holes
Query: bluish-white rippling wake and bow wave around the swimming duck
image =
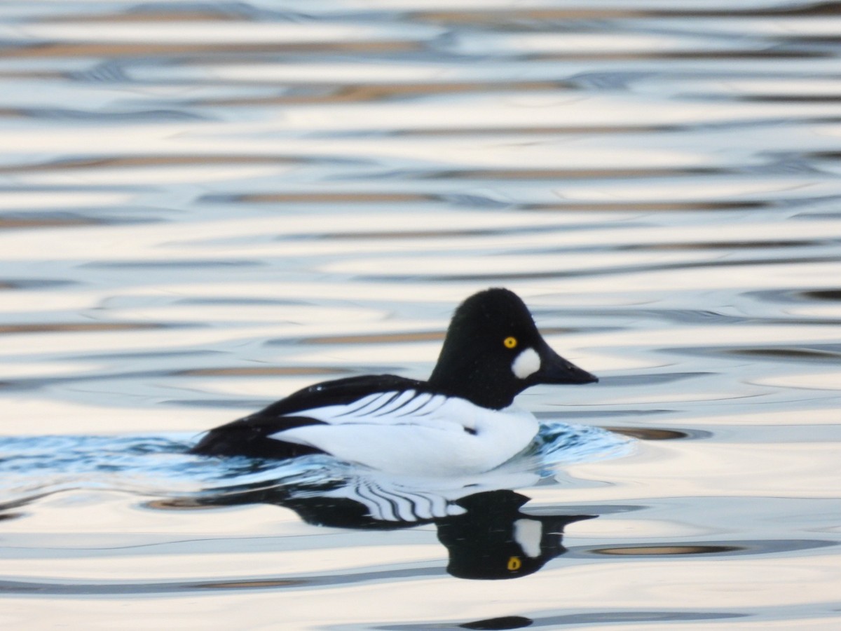
{"label": "bluish-white rippling wake and bow wave around the swimming duck", "polygon": [[[68,490],[117,490],[142,496],[214,497],[244,490],[314,489],[358,486],[383,475],[326,455],[288,461],[244,457],[212,458],[188,453],[193,434],[162,436],[0,437],[0,510]],[[564,465],[625,455],[632,439],[600,427],[543,423],[532,447],[494,471],[471,480],[412,479],[396,482],[452,496],[453,489],[525,488],[551,479]],[[357,480],[357,481],[353,481]],[[394,485],[394,476],[388,485]],[[442,489],[449,489],[444,492]]]}

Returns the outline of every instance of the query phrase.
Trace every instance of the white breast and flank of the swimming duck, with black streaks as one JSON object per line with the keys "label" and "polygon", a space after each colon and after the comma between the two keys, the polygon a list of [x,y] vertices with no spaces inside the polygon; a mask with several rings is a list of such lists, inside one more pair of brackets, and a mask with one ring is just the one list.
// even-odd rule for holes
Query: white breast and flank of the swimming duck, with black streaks
{"label": "white breast and flank of the swimming duck, with black streaks", "polygon": [[295,412],[327,425],[294,427],[272,438],[405,475],[480,473],[532,442],[537,419],[515,407],[488,410],[468,400],[415,390],[368,395],[341,406]]}

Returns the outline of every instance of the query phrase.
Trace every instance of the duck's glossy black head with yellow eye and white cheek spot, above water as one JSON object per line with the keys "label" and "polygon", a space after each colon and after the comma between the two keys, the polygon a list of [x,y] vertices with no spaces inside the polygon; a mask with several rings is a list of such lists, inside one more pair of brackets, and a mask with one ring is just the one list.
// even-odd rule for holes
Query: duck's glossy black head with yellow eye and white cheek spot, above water
{"label": "duck's glossy black head with yellow eye and white cheek spot, above water", "polygon": [[429,383],[499,410],[537,384],[590,384],[594,375],[555,353],[508,289],[485,289],[459,305]]}

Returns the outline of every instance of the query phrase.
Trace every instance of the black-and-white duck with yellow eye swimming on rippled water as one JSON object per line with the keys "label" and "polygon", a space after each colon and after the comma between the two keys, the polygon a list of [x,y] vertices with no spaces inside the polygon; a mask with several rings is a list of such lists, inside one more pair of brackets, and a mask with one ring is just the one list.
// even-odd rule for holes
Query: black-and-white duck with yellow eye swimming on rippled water
{"label": "black-and-white duck with yellow eye swimming on rippled water", "polygon": [[539,423],[515,405],[537,384],[590,384],[595,375],[543,339],[510,289],[464,300],[426,381],[370,374],[324,381],[198,440],[197,455],[297,459],[327,454],[399,475],[473,475],[527,450]]}

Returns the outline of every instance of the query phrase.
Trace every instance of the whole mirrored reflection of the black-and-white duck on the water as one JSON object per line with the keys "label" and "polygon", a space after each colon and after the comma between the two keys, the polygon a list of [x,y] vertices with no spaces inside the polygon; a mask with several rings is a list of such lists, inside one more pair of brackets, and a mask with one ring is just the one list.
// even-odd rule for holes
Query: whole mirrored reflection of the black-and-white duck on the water
{"label": "whole mirrored reflection of the black-and-white duck on the water", "polygon": [[511,579],[532,574],[566,552],[563,529],[569,523],[596,517],[523,512],[531,498],[510,485],[528,485],[536,477],[488,474],[428,480],[372,471],[305,484],[264,481],[226,487],[198,498],[198,503],[275,504],[293,510],[304,522],[332,528],[395,530],[435,524],[449,554],[449,574]]}

